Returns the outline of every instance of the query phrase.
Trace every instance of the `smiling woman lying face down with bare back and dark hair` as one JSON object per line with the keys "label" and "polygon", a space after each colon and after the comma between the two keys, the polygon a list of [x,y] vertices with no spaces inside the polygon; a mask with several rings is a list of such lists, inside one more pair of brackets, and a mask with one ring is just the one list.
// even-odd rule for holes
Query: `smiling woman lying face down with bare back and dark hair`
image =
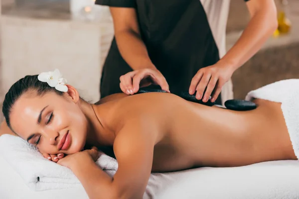
{"label": "smiling woman lying face down with bare back and dark hair", "polygon": [[[256,109],[234,111],[146,93],[90,104],[51,75],[17,81],[2,111],[10,129],[41,153],[67,154],[54,161],[69,167],[92,199],[142,198],[151,172],[297,159],[280,103],[257,99]],[[96,166],[97,149],[82,151],[86,144],[113,146],[113,178]]]}

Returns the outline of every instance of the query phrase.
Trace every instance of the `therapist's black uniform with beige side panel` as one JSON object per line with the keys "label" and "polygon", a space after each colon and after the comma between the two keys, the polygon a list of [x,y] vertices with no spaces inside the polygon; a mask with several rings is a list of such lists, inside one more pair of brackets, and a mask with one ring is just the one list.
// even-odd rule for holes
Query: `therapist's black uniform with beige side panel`
{"label": "therapist's black uniform with beige side panel", "polygon": [[[225,54],[229,0],[96,0],[96,4],[137,10],[149,58],[171,93],[188,91],[196,72]],[[103,68],[101,98],[120,93],[119,78],[130,71],[114,38]],[[220,95],[216,102],[221,103]]]}

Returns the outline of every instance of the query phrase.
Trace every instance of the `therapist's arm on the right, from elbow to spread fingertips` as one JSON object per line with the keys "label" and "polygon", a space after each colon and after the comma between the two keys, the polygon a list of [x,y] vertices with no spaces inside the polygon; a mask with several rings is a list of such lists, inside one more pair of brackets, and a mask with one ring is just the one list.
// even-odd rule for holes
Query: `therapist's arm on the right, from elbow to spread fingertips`
{"label": "therapist's arm on the right, from elbow to spread fingertips", "polygon": [[193,77],[189,94],[193,95],[196,91],[196,99],[206,102],[211,96],[211,101],[215,101],[232,74],[257,53],[276,30],[278,22],[274,0],[249,0],[247,7],[251,20],[236,44],[216,64],[200,69]]}

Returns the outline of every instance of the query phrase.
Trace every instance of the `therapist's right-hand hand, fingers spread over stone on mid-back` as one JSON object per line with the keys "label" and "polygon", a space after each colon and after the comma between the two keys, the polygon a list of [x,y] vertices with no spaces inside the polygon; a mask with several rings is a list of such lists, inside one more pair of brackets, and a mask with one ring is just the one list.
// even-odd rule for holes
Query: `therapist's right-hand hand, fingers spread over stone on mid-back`
{"label": "therapist's right-hand hand, fingers spread over stone on mid-back", "polygon": [[223,85],[230,80],[233,73],[234,69],[232,67],[218,63],[202,68],[193,77],[189,94],[194,95],[196,92],[196,99],[202,99],[203,102],[207,102],[212,95],[211,102],[214,102],[218,98]]}

